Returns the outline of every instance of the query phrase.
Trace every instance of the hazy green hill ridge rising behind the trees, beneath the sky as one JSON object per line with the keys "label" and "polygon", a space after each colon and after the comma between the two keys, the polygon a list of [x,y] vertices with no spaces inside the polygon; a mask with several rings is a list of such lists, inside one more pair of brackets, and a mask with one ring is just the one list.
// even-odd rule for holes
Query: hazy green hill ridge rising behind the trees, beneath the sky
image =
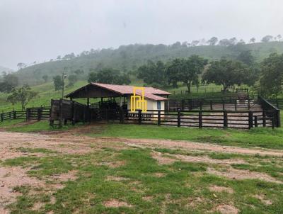
{"label": "hazy green hill ridge rising behind the trees, beneath the sky", "polygon": [[30,85],[42,84],[43,75],[48,75],[51,80],[54,75],[62,74],[64,68],[67,72],[74,72],[76,69],[83,69],[84,76],[89,69],[99,69],[101,67],[113,67],[121,71],[135,71],[137,67],[147,60],[167,61],[174,57],[189,57],[190,55],[200,55],[209,60],[216,60],[221,57],[234,59],[241,51],[251,50],[256,60],[260,61],[272,52],[283,52],[283,42],[254,43],[247,45],[233,46],[195,46],[184,45],[123,45],[117,49],[91,50],[83,52],[80,56],[67,57],[67,60],[56,60],[35,64],[16,72],[21,83]]}

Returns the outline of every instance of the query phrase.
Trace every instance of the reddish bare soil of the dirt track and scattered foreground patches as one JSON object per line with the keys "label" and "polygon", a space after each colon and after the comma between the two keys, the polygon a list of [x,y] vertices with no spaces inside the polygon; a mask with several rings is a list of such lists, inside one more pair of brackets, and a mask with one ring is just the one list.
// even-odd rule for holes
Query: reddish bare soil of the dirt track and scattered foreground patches
{"label": "reddish bare soil of the dirt track and scattered foreground patches", "polygon": [[[87,132],[87,130],[86,130]],[[260,148],[241,148],[241,147],[229,147],[221,145],[213,145],[209,143],[198,143],[198,142],[187,142],[181,140],[149,140],[149,139],[127,139],[118,137],[87,137],[87,136],[77,136],[73,135],[71,132],[61,132],[61,133],[9,133],[5,131],[0,131],[0,162],[5,159],[11,159],[15,157],[23,157],[25,155],[45,155],[42,153],[30,153],[18,150],[18,148],[45,148],[48,150],[53,150],[62,154],[86,154],[94,150],[102,150],[104,147],[115,148],[115,150],[122,150],[129,148],[129,146],[135,147],[163,147],[163,148],[182,148],[182,150],[189,151],[207,151],[207,152],[227,152],[227,153],[240,153],[240,154],[260,154],[260,155],[272,155],[277,157],[283,157],[283,152],[278,150],[262,150]],[[225,166],[235,163],[244,163],[242,159],[211,159],[206,156],[189,156],[181,154],[162,154],[160,152],[152,152],[152,157],[154,157],[159,164],[172,164],[176,160],[182,160],[187,162],[207,162],[212,164],[223,164]],[[110,167],[120,167],[125,162],[109,162],[105,163]],[[33,188],[43,187],[47,188],[50,192],[57,188],[63,188],[60,182],[67,180],[76,179],[76,171],[69,171],[67,174],[55,174],[50,176],[53,182],[47,184],[45,181],[35,179],[28,176],[26,173],[30,170],[29,168],[22,169],[21,167],[3,167],[0,166],[0,213],[8,213],[5,210],[5,206],[8,203],[15,201],[16,196],[21,195],[13,189],[16,186],[28,185]],[[229,179],[263,179],[265,181],[271,181],[276,183],[282,183],[277,181],[275,178],[268,176],[267,174],[238,170],[229,168],[226,171],[216,171],[215,169],[209,169],[207,171],[211,174],[216,174],[219,176],[226,176]],[[163,174],[156,174],[156,176],[161,177]],[[108,179],[122,180],[117,177],[112,177]],[[220,187],[213,187],[214,191],[230,191]],[[55,200],[55,199],[54,199]],[[263,197],[262,201],[265,200]],[[266,202],[269,203],[269,202]],[[119,207],[119,206],[131,206],[125,202],[111,200],[105,202],[106,206],[109,207]],[[41,204],[35,205],[34,209],[37,210],[41,207]],[[233,207],[233,205],[219,205],[216,208],[220,213],[237,213],[238,210]]]}

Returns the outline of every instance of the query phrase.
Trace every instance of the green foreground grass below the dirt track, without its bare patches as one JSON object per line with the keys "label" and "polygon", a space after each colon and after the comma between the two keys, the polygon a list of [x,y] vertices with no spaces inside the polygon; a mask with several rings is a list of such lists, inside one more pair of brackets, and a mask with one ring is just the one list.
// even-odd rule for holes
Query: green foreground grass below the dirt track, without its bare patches
{"label": "green foreground grass below the dirt track, without its bare patches", "polygon": [[[214,167],[212,164],[176,161],[161,165],[151,157],[149,149],[105,148],[88,154],[58,154],[19,160],[7,159],[2,164],[35,164],[37,167],[30,169],[28,174],[40,179],[70,170],[77,170],[78,173],[76,180],[63,182],[64,188],[52,193],[56,199],[54,203],[51,203],[48,192],[40,190],[34,195],[30,186],[15,188],[23,196],[8,205],[11,213],[217,213],[218,205],[223,204],[233,205],[239,213],[283,211],[282,184],[214,176],[207,173],[207,167]],[[119,167],[104,164],[118,161],[125,164]],[[252,166],[241,168],[252,169]],[[231,188],[232,192],[213,191],[211,186],[224,186]],[[257,196],[264,196],[271,203],[267,204]],[[113,200],[122,201],[125,205],[105,205]],[[35,203],[39,202],[42,207],[33,210]]]}

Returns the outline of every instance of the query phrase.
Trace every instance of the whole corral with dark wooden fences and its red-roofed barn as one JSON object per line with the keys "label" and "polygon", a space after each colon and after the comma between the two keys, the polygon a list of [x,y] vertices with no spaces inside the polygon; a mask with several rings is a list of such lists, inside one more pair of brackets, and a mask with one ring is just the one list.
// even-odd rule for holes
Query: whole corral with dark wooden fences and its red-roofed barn
{"label": "whole corral with dark wooden fences and its red-roofed barn", "polygon": [[[103,120],[198,128],[280,126],[279,108],[262,96],[250,97],[243,92],[229,98],[173,100],[168,99],[170,93],[149,87],[145,93],[148,101],[146,112],[139,109],[132,112],[129,100],[133,87],[91,83],[67,94],[70,100],[52,100],[50,108],[28,108],[26,113],[2,113],[1,120],[25,116],[27,120],[50,120],[50,125],[58,121],[60,126],[68,121],[75,124]],[[86,98],[86,104],[74,101],[75,98]],[[90,103],[90,98],[100,98],[100,102]]]}

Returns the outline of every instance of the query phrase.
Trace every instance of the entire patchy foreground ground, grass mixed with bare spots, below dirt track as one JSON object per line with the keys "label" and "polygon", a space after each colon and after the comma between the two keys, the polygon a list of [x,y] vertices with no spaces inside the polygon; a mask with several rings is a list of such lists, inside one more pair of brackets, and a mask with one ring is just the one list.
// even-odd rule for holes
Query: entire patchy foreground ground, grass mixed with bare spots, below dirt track
{"label": "entire patchy foreground ground, grass mixed with bare spots, below dirt track", "polygon": [[72,140],[50,149],[12,146],[25,156],[1,167],[23,168],[25,182],[33,183],[14,186],[11,213],[283,212],[281,157],[79,139],[73,137],[86,147],[83,154]]}

